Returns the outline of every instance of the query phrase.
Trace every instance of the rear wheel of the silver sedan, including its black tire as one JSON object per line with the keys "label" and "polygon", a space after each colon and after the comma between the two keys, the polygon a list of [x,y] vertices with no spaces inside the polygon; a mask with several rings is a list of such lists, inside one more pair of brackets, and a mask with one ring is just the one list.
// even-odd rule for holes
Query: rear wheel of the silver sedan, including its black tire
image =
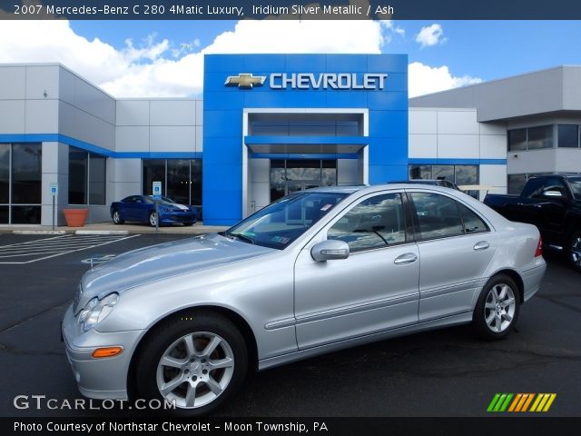
{"label": "rear wheel of the silver sedan, including its black tire", "polygon": [[[511,299],[514,299],[513,304],[507,304]],[[472,323],[482,339],[504,339],[517,323],[519,311],[517,283],[506,274],[498,274],[480,292]]]}

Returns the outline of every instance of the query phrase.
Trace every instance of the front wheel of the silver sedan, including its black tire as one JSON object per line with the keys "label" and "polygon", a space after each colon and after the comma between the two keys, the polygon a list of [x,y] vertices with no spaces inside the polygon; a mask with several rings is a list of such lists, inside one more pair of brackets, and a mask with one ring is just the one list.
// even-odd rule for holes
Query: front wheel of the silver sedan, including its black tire
{"label": "front wheel of the silver sedan, including its black tire", "polygon": [[[192,338],[196,357],[188,353],[186,338]],[[214,342],[215,349],[204,354]],[[180,362],[180,368],[162,365],[164,357]],[[216,364],[231,366],[212,369]],[[222,315],[194,312],[176,317],[153,332],[139,353],[135,374],[140,398],[176,401],[171,412],[192,417],[209,413],[231,398],[247,371],[248,350],[236,326]],[[165,395],[161,391],[164,385],[172,385]],[[188,394],[192,391],[195,401],[191,407]]]}

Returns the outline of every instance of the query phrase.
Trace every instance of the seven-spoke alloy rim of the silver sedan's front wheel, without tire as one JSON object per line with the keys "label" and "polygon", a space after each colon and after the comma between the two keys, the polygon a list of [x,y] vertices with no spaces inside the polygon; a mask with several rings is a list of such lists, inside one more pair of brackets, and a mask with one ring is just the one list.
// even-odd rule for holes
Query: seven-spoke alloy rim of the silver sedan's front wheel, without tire
{"label": "seven-spoke alloy rim of the silver sedan's front wheel, without tire", "polygon": [[193,332],[173,342],[157,366],[157,388],[177,407],[202,407],[228,388],[234,373],[234,353],[212,332]]}

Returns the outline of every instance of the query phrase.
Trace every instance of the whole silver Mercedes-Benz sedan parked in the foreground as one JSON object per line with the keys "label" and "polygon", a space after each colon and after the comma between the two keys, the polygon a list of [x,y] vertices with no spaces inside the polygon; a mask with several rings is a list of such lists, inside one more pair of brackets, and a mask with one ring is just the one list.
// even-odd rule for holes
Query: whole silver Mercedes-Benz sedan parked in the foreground
{"label": "whole silver Mercedes-Benz sedan parked in the foreground", "polygon": [[503,338],[545,269],[535,226],[464,193],[316,188],[86,272],[64,342],[85,396],[196,415],[254,369],[468,322]]}

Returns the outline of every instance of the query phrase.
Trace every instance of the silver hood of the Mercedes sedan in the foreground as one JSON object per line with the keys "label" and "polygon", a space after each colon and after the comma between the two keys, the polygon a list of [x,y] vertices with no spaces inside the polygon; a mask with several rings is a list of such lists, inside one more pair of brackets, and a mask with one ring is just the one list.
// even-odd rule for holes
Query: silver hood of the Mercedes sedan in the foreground
{"label": "silver hood of the Mercedes sedan in the foreground", "polygon": [[94,296],[102,298],[110,292],[123,292],[145,282],[277,251],[232,241],[217,233],[133,250],[85,272],[81,279],[83,292],[75,298],[75,311]]}

